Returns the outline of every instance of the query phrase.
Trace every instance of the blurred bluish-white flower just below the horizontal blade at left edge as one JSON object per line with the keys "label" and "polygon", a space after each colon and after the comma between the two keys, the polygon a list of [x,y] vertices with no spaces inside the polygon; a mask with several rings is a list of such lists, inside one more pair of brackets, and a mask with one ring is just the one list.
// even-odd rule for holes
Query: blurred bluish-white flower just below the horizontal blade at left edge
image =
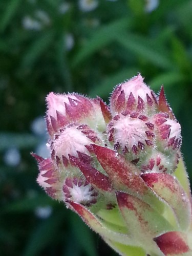
{"label": "blurred bluish-white flower just below the horizontal blade at left edge", "polygon": [[4,162],[9,166],[17,166],[20,159],[20,152],[16,147],[9,148],[4,154]]}

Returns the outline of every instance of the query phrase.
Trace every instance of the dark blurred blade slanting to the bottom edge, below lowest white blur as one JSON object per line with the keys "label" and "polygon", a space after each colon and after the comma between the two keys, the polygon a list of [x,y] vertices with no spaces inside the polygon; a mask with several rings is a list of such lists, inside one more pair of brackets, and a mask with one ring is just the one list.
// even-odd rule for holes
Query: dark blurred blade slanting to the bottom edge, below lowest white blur
{"label": "dark blurred blade slanting to the bottom edge, below lowest white blur", "polygon": [[50,242],[54,240],[54,234],[58,233],[61,223],[64,221],[63,210],[56,211],[50,218],[42,221],[32,232],[23,256],[37,256]]}

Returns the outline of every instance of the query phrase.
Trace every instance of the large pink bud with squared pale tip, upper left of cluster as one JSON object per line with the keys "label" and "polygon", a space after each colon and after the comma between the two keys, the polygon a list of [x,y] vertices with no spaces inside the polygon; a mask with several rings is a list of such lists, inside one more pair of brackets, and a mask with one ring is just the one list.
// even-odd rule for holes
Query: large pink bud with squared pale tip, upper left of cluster
{"label": "large pink bud with squared pale tip, upper left of cluster", "polygon": [[101,109],[106,106],[100,99],[89,99],[78,94],[47,96],[47,126],[51,136],[70,123],[88,124],[92,129],[104,131],[106,124]]}

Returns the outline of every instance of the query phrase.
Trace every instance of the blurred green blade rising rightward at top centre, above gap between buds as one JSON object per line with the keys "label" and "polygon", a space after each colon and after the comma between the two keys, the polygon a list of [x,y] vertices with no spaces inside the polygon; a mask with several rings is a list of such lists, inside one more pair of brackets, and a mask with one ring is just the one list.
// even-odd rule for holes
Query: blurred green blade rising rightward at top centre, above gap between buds
{"label": "blurred green blade rising rightward at top centre, above gap between buds", "polygon": [[86,42],[86,44],[80,49],[78,54],[74,57],[72,65],[75,67],[82,61],[89,58],[99,49],[110,44],[114,38],[124,31],[130,24],[130,19],[122,18],[110,23],[109,25],[102,26],[100,29],[94,32],[93,37]]}

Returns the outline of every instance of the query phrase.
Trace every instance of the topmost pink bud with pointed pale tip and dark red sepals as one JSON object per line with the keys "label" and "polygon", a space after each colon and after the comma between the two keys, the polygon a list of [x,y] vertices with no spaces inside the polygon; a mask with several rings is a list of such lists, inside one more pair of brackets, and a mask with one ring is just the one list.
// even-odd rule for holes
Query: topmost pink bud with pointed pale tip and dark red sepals
{"label": "topmost pink bud with pointed pale tip and dark red sepals", "polygon": [[146,86],[140,74],[117,86],[110,98],[113,116],[124,111],[153,112],[155,105],[157,105],[155,93]]}

